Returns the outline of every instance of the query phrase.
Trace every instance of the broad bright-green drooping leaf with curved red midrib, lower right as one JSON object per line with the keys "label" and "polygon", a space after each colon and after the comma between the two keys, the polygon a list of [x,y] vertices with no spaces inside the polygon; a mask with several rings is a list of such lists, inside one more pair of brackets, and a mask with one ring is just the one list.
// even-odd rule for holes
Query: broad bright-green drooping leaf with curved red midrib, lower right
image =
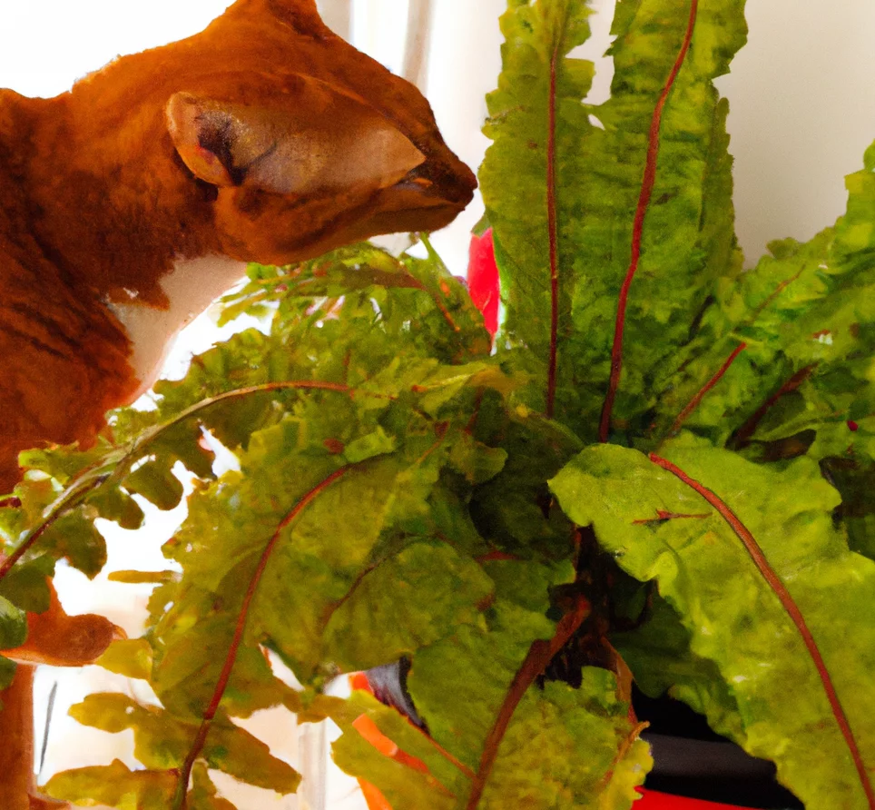
{"label": "broad bright-green drooping leaf with curved red midrib, lower right", "polygon": [[[862,762],[871,768],[875,563],[850,552],[834,527],[838,493],[810,459],[772,469],[690,442],[665,452],[752,532],[811,628]],[[731,725],[723,720],[728,694],[741,726],[733,736],[753,755],[774,759],[783,784],[810,810],[837,802],[867,806],[801,632],[726,519],[670,471],[612,446],[586,449],[551,488],[571,519],[593,525],[626,571],[656,580],[690,634],[690,652],[711,662],[723,680],[723,687],[703,690],[697,684],[712,674],[707,669],[692,683],[683,671],[675,673],[682,686],[698,688],[715,725]],[[826,761],[823,751],[834,756]]]}

